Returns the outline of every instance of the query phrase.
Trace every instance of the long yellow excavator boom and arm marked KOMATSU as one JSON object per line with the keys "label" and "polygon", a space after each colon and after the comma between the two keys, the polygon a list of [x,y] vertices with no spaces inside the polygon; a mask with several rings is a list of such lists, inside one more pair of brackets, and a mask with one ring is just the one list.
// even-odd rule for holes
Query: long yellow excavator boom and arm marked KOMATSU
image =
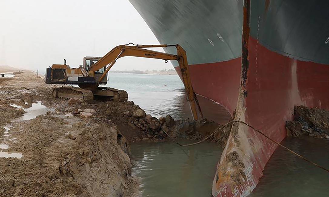
{"label": "long yellow excavator boom and arm marked KOMATSU", "polygon": [[[158,51],[152,51],[145,48],[159,48],[159,47],[176,47],[177,49],[177,55],[173,54],[167,54],[162,53]],[[192,82],[190,78],[190,72],[189,72],[189,65],[186,57],[185,50],[180,45],[119,45],[112,49],[109,53],[104,55],[100,60],[97,61],[94,65],[92,65],[89,69],[89,75],[93,75],[93,73],[105,66],[107,66],[107,69],[103,73],[103,75],[98,79],[98,81],[101,81],[106,74],[109,72],[109,70],[112,68],[116,60],[120,57],[124,56],[135,56],[135,57],[145,57],[145,58],[153,58],[153,59],[163,59],[165,61],[168,60],[177,60],[180,70],[181,70],[181,77],[185,86],[185,90],[188,95],[188,100],[190,102],[190,108],[193,115],[194,120],[198,120],[198,114],[196,108],[198,108],[201,118],[202,118],[202,112],[201,108],[199,106],[198,100],[196,98],[196,95],[194,93]]]}

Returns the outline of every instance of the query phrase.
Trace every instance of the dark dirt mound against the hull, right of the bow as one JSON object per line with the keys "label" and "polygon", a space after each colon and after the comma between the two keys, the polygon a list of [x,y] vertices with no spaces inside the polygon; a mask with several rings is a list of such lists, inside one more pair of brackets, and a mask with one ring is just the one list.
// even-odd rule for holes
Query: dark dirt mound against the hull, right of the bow
{"label": "dark dirt mound against the hull, right of the bow", "polygon": [[294,107],[295,118],[286,122],[287,135],[299,137],[308,135],[329,139],[329,112],[305,106]]}

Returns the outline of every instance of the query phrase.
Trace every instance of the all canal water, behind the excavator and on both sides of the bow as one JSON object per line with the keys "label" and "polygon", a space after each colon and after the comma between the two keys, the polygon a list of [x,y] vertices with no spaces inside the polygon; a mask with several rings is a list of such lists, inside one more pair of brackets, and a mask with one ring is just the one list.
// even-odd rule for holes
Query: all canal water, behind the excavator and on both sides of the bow
{"label": "all canal water, behind the excavator and on both sides of the bow", "polygon": [[[184,85],[178,76],[110,73],[107,86],[124,89],[129,100],[155,117],[190,116]],[[166,86],[165,86],[166,85]],[[230,115],[212,101],[201,100],[206,117],[225,122]],[[189,142],[185,142],[189,143]],[[306,158],[329,167],[329,143],[309,137],[282,142]],[[212,181],[221,152],[214,143],[180,147],[171,142],[131,144],[134,167],[143,197],[210,197]],[[277,148],[267,163],[264,176],[250,197],[329,196],[329,174],[283,148]]]}

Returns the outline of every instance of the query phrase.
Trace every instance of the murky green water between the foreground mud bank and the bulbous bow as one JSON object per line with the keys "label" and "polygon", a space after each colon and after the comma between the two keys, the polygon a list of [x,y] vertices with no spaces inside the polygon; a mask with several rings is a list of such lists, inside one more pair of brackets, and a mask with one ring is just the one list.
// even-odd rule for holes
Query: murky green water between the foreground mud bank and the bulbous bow
{"label": "murky green water between the foreground mud bank and the bulbous bow", "polygon": [[142,142],[132,144],[131,152],[132,173],[140,178],[142,196],[211,196],[221,155],[216,144],[181,147],[172,142]]}

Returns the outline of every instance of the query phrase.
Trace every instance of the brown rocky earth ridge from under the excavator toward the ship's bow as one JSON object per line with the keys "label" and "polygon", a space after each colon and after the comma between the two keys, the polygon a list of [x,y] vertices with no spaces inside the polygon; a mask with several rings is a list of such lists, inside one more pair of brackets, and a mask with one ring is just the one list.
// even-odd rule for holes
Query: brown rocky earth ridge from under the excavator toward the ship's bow
{"label": "brown rocky earth ridge from under the excavator toward the ship's bow", "polygon": [[[85,112],[91,110],[95,113],[86,115]],[[56,111],[67,114],[67,116],[72,114],[77,117],[83,116],[96,118],[103,122],[113,122],[129,142],[164,141],[170,140],[170,138],[202,140],[220,126],[218,123],[206,119],[175,121],[170,115],[157,119],[146,114],[133,101],[61,102],[56,105]],[[169,134],[170,138],[164,131]],[[211,140],[225,144],[228,134],[229,131],[218,132]]]}

